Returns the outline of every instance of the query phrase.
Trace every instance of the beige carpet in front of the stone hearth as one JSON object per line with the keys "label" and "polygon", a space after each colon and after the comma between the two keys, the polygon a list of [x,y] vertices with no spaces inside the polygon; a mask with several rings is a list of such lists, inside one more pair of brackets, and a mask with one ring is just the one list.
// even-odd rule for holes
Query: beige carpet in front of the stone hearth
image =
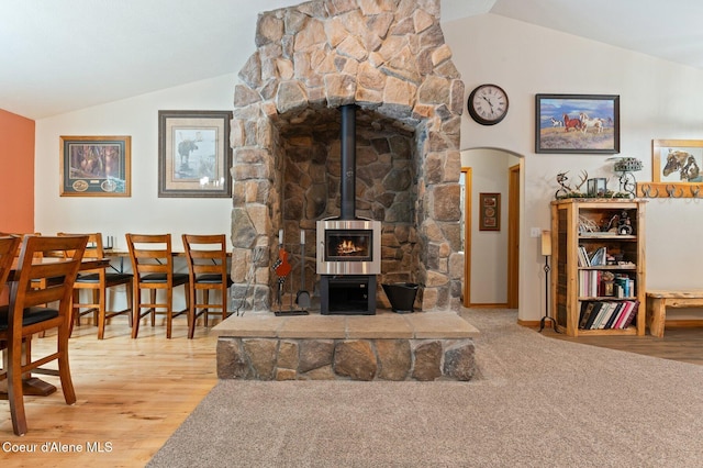
{"label": "beige carpet in front of the stone hearth", "polygon": [[462,314],[475,381],[221,381],[148,466],[703,466],[703,366]]}

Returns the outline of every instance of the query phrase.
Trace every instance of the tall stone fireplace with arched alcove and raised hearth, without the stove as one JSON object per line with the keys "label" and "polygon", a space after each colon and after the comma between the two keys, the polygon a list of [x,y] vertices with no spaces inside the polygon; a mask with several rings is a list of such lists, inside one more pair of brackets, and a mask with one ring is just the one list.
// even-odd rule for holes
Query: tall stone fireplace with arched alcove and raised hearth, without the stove
{"label": "tall stone fireplace with arched alcove and raised hearth, without the stove", "polygon": [[[269,316],[277,281],[271,265],[278,256],[279,230],[298,258],[301,253],[295,248],[304,231],[308,281],[300,285],[300,275],[292,275],[287,288],[315,290],[315,222],[339,214],[338,108],[344,104],[358,107],[356,214],[382,223],[378,283],[419,283],[415,309],[423,311],[421,315],[451,312],[459,319],[464,269],[459,131],[465,87],[444,43],[439,3],[316,0],[259,14],[257,48],[239,71],[242,83],[234,93],[232,296],[234,305],[248,315],[260,312],[267,316],[259,319],[279,322],[258,332],[248,330],[241,317],[219,325],[222,378],[260,378],[256,371],[233,375],[226,369],[235,363],[248,363],[249,370],[253,363],[277,363],[279,352],[288,353],[291,343],[300,349],[317,339],[304,332],[312,322],[300,325],[314,316]],[[380,288],[377,296],[388,308]],[[346,323],[350,317],[325,319]],[[239,322],[234,325],[232,320]],[[297,335],[271,332],[284,323],[299,324]],[[436,363],[451,361],[460,348],[460,374],[472,375],[466,369],[472,366],[476,331],[457,343],[459,337],[438,332],[431,323],[415,321],[410,334],[401,324],[400,335],[386,337],[372,332],[372,325],[362,327],[366,333],[353,334],[354,339],[347,333],[323,335],[334,349],[356,349],[352,354],[358,352],[357,345],[345,343],[361,341],[377,357],[379,346],[412,349],[411,363],[425,345]],[[331,376],[339,378],[336,372]],[[293,377],[283,372],[268,378],[309,377],[293,371]]]}

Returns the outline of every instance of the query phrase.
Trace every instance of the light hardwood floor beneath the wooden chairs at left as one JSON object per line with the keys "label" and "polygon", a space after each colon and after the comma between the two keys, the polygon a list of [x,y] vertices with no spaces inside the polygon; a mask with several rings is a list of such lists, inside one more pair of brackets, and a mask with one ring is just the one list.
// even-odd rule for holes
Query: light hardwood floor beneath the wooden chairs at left
{"label": "light hardwood floor beneath the wooden chairs at left", "polygon": [[[0,465],[143,467],[214,387],[216,338],[203,326],[187,339],[186,317],[180,316],[174,320],[174,337],[166,339],[165,326],[143,322],[140,337],[131,339],[122,319],[113,319],[103,341],[92,325],[74,330],[75,405],[65,403],[57,377],[37,376],[59,389],[48,397],[25,397],[29,433],[18,437],[8,403],[0,401]],[[42,338],[33,346],[40,353]],[[53,452],[43,453],[45,443],[82,452],[52,446]],[[20,444],[36,453],[12,453],[12,445]]]}

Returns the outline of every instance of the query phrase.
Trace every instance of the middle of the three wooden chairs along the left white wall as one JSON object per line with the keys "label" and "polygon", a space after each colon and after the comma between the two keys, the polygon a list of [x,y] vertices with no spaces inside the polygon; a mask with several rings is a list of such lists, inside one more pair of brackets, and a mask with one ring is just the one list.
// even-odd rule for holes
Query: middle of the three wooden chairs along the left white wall
{"label": "middle of the three wooden chairs along the left white wall", "polygon": [[[166,314],[166,337],[171,337],[171,325],[175,317],[187,313],[189,308],[188,274],[174,272],[174,256],[170,234],[125,234],[132,272],[134,274],[134,303],[132,305],[132,337],[140,333],[140,321],[150,314],[152,326],[156,325],[156,314]],[[183,286],[186,309],[174,311],[174,288]],[[149,291],[149,301],[142,300],[142,290]],[[164,299],[157,302],[157,291],[164,291]],[[142,312],[142,309],[146,311]],[[158,310],[161,309],[161,310]]]}

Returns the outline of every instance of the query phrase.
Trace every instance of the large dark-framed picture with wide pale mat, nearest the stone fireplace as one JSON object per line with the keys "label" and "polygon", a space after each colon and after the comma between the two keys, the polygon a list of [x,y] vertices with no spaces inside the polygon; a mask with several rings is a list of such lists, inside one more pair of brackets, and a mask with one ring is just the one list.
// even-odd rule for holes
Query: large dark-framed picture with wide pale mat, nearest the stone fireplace
{"label": "large dark-framed picture with wide pale mat, nearest the stone fireplace", "polygon": [[158,197],[232,197],[232,111],[158,111]]}

